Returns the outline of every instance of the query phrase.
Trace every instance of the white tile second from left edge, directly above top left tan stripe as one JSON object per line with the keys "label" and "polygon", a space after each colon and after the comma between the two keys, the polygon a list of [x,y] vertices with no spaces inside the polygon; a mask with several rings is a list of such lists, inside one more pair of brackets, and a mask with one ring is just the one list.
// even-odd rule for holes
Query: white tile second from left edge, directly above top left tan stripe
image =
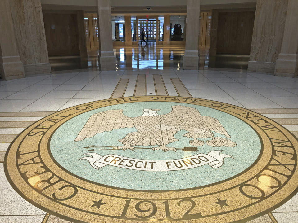
{"label": "white tile second from left edge, directly above top left tan stripe", "polygon": [[22,112],[57,111],[68,100],[69,99],[38,99],[28,107],[22,109]]}

